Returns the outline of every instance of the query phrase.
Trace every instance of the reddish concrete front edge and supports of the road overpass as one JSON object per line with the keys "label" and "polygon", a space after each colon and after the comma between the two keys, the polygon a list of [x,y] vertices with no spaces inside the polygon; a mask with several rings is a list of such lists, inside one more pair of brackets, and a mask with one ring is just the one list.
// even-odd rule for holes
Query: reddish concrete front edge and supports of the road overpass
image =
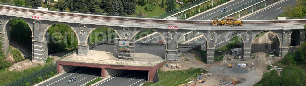
{"label": "reddish concrete front edge and supports of the road overpass", "polygon": [[81,66],[81,67],[92,67],[92,68],[101,68],[101,77],[106,77],[105,68],[109,69],[121,69],[121,70],[140,70],[140,71],[149,71],[149,81],[153,81],[154,74],[156,70],[162,66],[167,61],[159,63],[155,66],[127,66],[127,65],[110,65],[110,64],[97,64],[97,63],[80,63],[80,62],[69,62],[69,61],[56,61],[57,62],[57,72],[62,73],[62,66]]}

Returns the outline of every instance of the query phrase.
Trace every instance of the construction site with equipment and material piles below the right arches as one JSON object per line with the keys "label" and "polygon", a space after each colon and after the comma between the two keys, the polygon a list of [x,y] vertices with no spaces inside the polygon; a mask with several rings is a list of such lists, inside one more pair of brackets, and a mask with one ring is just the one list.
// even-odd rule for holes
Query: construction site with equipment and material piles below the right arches
{"label": "construction site with equipment and material piles below the right arches", "polygon": [[[261,80],[264,72],[269,71],[266,69],[268,65],[282,60],[283,57],[278,57],[274,53],[276,40],[278,39],[272,32],[263,33],[262,36],[255,38],[252,41],[254,47],[252,46],[251,59],[248,61],[239,58],[241,52],[239,52],[239,48],[235,48],[231,49],[231,53],[225,54],[221,61],[215,64],[205,64],[196,59],[197,57],[201,59],[205,57],[192,50],[181,54],[179,60],[163,65],[160,70],[177,71],[197,68],[207,70],[206,73],[203,72],[186,79],[189,82],[180,86],[252,86]],[[281,69],[274,68],[278,71]]]}

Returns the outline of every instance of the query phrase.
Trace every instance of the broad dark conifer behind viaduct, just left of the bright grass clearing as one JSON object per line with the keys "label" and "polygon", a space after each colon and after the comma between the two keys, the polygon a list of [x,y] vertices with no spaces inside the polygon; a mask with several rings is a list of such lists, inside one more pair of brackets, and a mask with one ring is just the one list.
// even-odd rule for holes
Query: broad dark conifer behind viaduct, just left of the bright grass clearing
{"label": "broad dark conifer behind viaduct, just left of the bright grass clearing", "polygon": [[122,0],[124,5],[124,11],[126,14],[134,14],[135,13],[135,0]]}

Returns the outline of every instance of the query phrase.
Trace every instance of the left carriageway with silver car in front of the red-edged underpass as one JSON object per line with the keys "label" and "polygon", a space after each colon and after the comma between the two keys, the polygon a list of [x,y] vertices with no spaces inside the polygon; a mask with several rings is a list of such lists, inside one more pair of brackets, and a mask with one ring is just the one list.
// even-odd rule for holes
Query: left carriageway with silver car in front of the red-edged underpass
{"label": "left carriageway with silver car in front of the red-edged underpass", "polygon": [[[101,69],[78,67],[70,72],[55,77],[39,86],[80,86],[101,76]],[[71,77],[76,77],[76,81],[68,83]]]}

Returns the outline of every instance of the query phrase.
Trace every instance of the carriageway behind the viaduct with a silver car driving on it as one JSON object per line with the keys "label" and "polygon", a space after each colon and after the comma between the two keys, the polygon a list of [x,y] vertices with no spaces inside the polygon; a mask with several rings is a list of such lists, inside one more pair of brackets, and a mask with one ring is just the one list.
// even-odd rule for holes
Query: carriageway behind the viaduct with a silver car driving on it
{"label": "carriageway behind the viaduct with a silver car driving on it", "polygon": [[221,15],[224,12],[219,12],[220,9],[226,8],[226,11],[230,11],[231,9],[235,9],[237,7],[240,7],[248,2],[251,2],[252,0],[235,0],[233,2],[230,2],[228,4],[222,5],[214,10],[207,11],[199,16],[195,16],[194,18],[191,18],[190,20],[214,20],[212,18]]}

